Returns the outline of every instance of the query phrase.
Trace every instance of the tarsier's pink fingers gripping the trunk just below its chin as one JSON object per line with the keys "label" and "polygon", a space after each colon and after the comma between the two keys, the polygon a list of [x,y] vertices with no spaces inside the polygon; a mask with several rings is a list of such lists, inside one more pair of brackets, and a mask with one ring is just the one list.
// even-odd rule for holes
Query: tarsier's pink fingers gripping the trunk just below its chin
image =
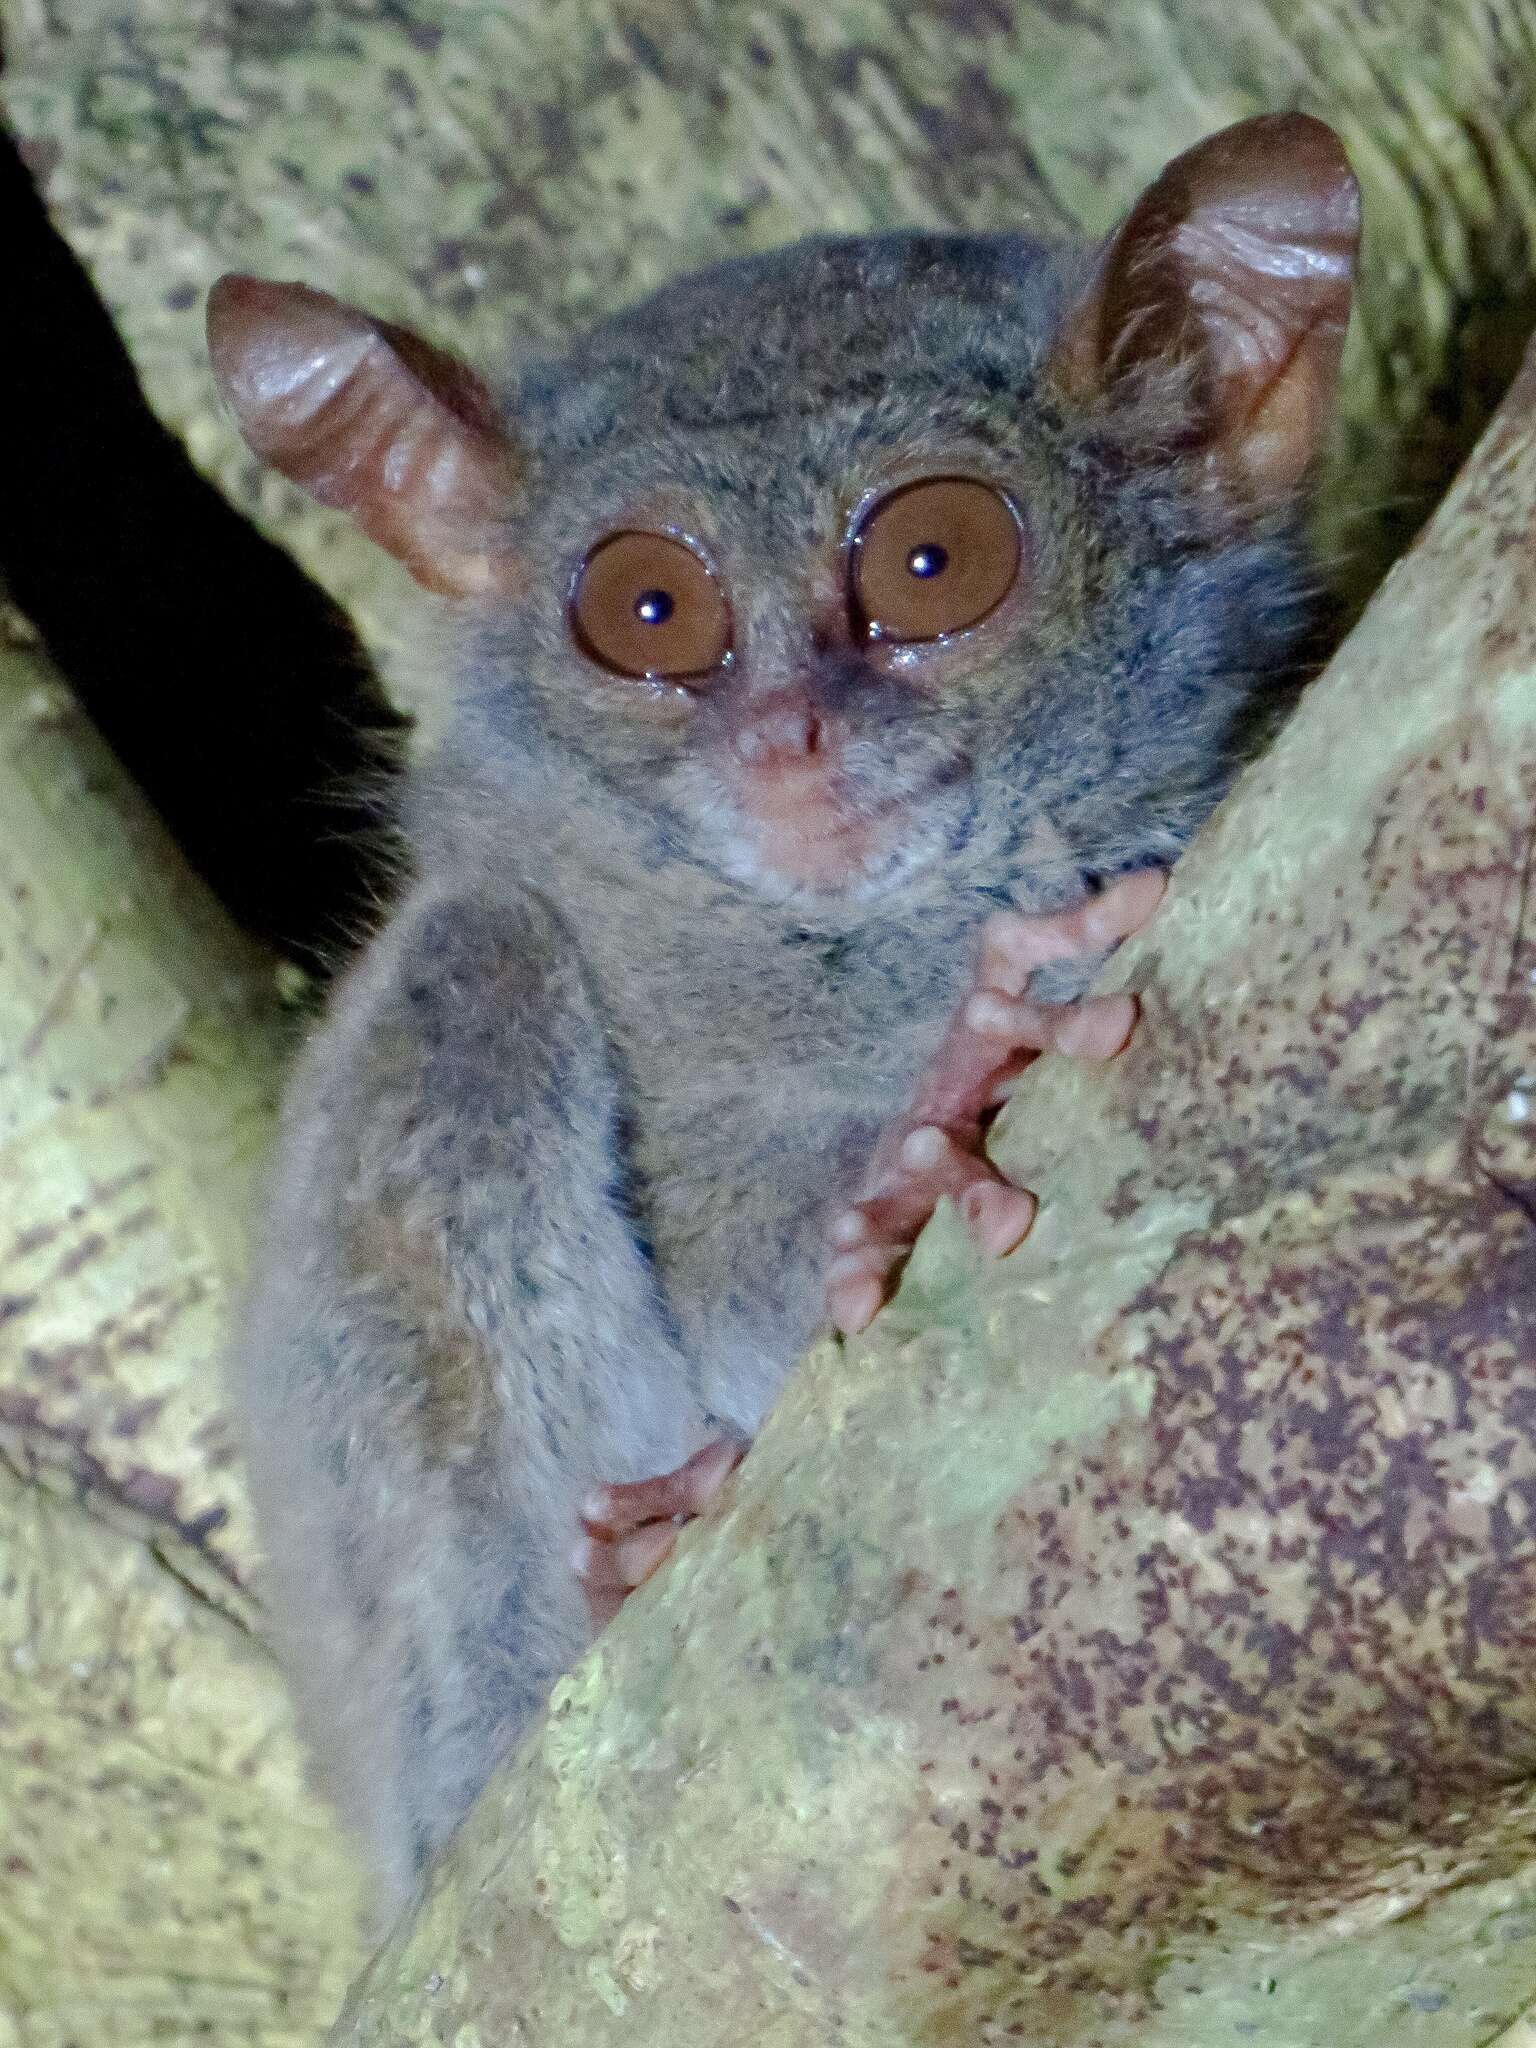
{"label": "tarsier's pink fingers gripping the trunk just below its chin", "polygon": [[965,1217],[983,1251],[1001,1257],[1034,1223],[1034,1196],[985,1157],[991,1112],[1040,1053],[1110,1059],[1130,1036],[1130,995],[1075,1004],[1030,997],[1049,961],[1106,952],[1151,918],[1167,881],[1145,868],[1077,909],[1049,915],[999,911],[981,932],[977,979],[920,1077],[905,1116],[874,1149],[868,1194],[829,1229],[827,1315],[846,1333],[864,1329],[940,1196]]}

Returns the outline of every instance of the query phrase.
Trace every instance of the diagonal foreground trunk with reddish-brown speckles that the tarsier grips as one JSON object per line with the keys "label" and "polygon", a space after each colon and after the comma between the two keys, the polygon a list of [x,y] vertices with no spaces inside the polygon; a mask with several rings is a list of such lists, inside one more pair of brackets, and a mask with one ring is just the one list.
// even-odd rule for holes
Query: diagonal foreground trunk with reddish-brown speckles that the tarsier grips
{"label": "diagonal foreground trunk with reddish-brown speckles that the tarsier grips", "polygon": [[[1286,2048],[1536,1993],[1536,369],[1110,1069],[801,1370],[338,2040]],[[1511,2036],[1518,2040],[1520,2036]]]}

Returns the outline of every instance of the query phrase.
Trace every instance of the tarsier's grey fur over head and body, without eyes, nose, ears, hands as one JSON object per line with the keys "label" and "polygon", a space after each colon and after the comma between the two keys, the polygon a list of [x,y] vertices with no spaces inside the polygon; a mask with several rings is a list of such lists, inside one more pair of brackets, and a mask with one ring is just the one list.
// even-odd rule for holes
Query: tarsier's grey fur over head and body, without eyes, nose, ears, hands
{"label": "tarsier's grey fur over head and body, without eyes, nose, ears, hands", "polygon": [[[242,1343],[303,1726],[389,1903],[586,1640],[586,1487],[772,1405],[977,924],[1169,862],[1294,662],[1294,508],[1212,508],[1165,393],[1073,412],[1040,377],[1083,274],[1020,236],[807,242],[508,399],[526,596],[449,623],[414,881],[295,1079]],[[817,627],[891,465],[1001,475],[1032,535],[1018,623],[907,668]],[[907,807],[856,887],[754,868],[719,694],[657,715],[573,651],[573,565],[637,506],[731,590],[719,690],[807,672],[860,801]]]}

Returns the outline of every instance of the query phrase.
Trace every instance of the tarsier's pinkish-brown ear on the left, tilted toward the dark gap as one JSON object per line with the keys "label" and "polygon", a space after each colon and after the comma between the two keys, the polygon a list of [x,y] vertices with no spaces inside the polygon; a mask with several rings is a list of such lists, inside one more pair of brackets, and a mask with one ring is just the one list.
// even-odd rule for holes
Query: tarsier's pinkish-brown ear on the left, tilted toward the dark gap
{"label": "tarsier's pinkish-brown ear on the left, tilted toward the dark gap", "polygon": [[209,354],[240,430],[428,590],[516,584],[516,483],[489,391],[453,356],[307,285],[221,276]]}

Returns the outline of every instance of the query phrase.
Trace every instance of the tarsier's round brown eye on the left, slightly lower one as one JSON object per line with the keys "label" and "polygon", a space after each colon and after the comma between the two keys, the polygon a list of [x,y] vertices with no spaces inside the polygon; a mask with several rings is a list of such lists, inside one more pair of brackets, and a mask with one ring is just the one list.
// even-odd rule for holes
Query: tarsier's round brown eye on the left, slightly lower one
{"label": "tarsier's round brown eye on the left, slightly lower one", "polygon": [[621,676],[705,676],[731,647],[713,571],[664,532],[614,532],[582,565],[571,623],[594,662]]}

